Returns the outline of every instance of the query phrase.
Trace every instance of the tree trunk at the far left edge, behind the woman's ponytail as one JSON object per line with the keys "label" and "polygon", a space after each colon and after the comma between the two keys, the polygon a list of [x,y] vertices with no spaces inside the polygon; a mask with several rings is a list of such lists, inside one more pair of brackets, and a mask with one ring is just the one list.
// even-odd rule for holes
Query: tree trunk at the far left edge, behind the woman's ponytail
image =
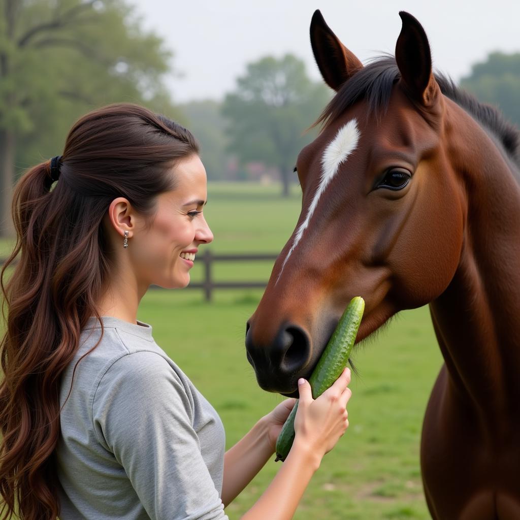
{"label": "tree trunk at the far left edge, behind the woman's ponytail", "polygon": [[0,130],[0,237],[14,238],[16,230],[11,216],[12,191],[15,183],[15,135]]}

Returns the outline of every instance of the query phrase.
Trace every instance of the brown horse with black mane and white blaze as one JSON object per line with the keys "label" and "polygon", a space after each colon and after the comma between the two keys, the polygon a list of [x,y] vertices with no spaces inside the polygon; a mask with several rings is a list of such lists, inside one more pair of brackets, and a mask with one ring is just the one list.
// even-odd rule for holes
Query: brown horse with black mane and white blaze
{"label": "brown horse with black mane and white blaze", "polygon": [[246,332],[258,384],[297,397],[350,298],[360,341],[430,304],[445,363],[421,469],[436,520],[520,518],[519,134],[432,73],[399,13],[394,57],[363,67],[316,11],[316,62],[336,90],[298,155],[302,213]]}

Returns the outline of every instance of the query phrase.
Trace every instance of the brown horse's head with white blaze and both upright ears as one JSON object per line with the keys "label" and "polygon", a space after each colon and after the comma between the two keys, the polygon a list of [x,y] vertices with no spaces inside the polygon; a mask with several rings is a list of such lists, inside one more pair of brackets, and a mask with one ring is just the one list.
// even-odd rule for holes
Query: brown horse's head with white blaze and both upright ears
{"label": "brown horse's head with white blaze and both upright ears", "polygon": [[313,16],[314,55],[336,95],[298,155],[302,212],[248,322],[248,360],[267,391],[297,397],[353,296],[366,302],[359,341],[434,300],[457,268],[463,210],[447,98],[423,28],[400,16],[395,59],[366,67]]}

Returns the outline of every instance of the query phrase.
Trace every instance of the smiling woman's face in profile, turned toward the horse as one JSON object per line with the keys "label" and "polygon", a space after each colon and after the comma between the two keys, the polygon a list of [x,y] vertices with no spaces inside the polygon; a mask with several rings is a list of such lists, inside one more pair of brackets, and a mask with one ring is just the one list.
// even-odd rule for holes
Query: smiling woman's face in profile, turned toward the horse
{"label": "smiling woman's face in profile, turned toward the horse", "polygon": [[125,251],[131,254],[139,284],[146,288],[150,284],[166,289],[186,287],[193,255],[200,244],[213,240],[202,213],[207,200],[206,171],[198,155],[177,162],[172,175],[176,189],[158,196],[152,227],[137,227]]}

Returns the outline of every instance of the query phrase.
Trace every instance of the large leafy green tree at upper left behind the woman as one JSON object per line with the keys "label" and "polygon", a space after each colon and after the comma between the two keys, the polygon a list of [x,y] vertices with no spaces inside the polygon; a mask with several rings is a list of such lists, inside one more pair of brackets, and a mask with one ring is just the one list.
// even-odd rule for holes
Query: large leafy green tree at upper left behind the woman
{"label": "large leafy green tree at upper left behind the woman", "polygon": [[81,114],[131,101],[178,115],[162,81],[171,57],[124,0],[0,0],[2,235],[14,181],[58,155]]}

